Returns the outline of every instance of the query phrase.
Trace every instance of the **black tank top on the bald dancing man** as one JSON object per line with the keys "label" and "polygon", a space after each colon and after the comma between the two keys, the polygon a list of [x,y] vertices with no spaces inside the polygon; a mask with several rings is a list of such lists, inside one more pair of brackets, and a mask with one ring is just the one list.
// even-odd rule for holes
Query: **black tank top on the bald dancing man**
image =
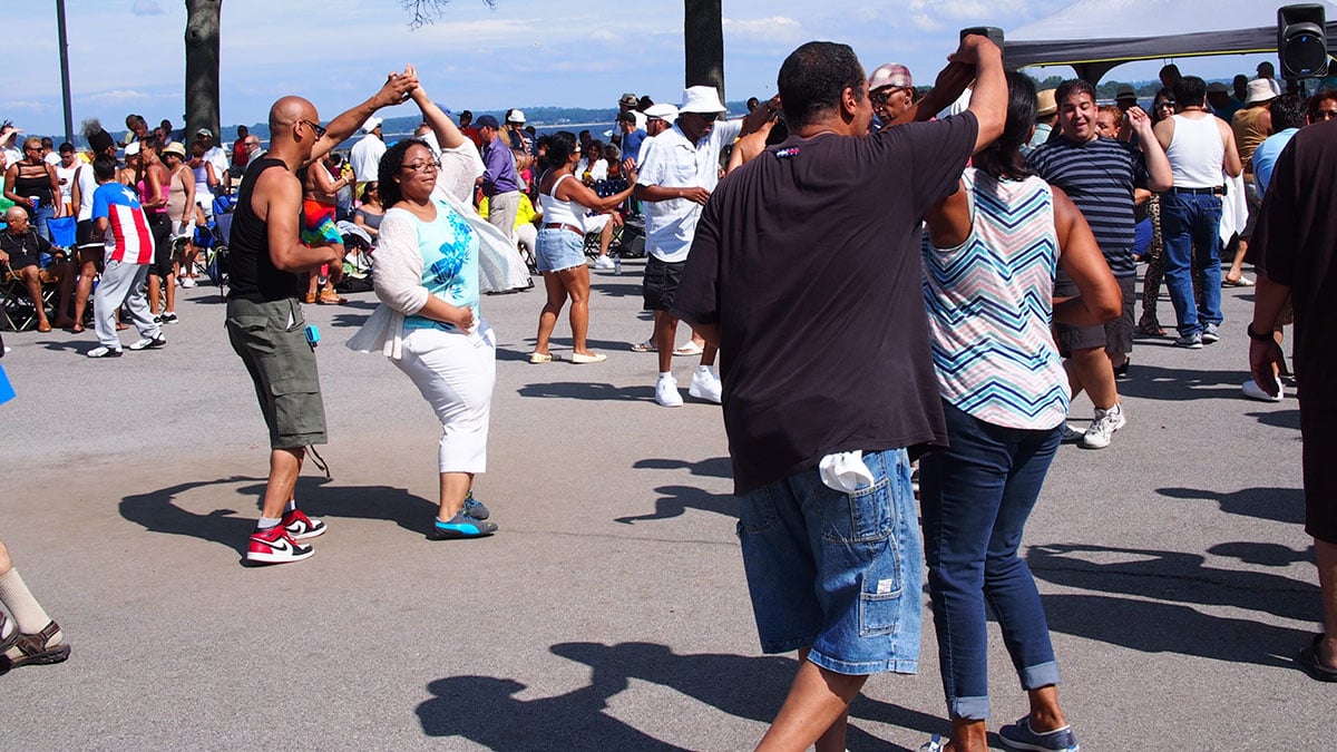
{"label": "black tank top on the bald dancing man", "polygon": [[298,276],[274,266],[274,260],[269,254],[265,222],[251,209],[251,190],[259,174],[270,167],[286,170],[287,165],[282,159],[270,158],[251,162],[246,166],[246,177],[242,178],[242,189],[237,194],[229,246],[229,274],[233,285],[227,293],[229,298],[266,302],[298,296]]}

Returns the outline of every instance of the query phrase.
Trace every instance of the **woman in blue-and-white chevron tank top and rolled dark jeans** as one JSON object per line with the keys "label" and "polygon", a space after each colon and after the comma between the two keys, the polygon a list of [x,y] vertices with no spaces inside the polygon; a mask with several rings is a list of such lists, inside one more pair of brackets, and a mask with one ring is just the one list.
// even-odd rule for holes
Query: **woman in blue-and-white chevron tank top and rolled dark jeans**
{"label": "woman in blue-and-white chevron tank top and rolled dark jeans", "polygon": [[[920,463],[924,553],[951,747],[987,749],[988,597],[1031,701],[1000,737],[1011,748],[1076,749],[1044,609],[1017,547],[1068,409],[1050,325],[1103,324],[1119,314],[1120,297],[1082,214],[1025,169],[1035,83],[1007,78],[1003,135],[927,217],[924,301],[951,448]],[[1058,266],[1082,294],[1055,305]]]}

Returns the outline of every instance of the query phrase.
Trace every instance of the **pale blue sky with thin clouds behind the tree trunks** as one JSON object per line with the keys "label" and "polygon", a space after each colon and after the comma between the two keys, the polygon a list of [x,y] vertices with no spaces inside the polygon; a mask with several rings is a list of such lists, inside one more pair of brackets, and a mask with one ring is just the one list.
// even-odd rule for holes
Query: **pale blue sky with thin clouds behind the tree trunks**
{"label": "pale blue sky with thin clouds behind the tree trunks", "polygon": [[[1130,0],[1107,0],[1119,4]],[[1154,0],[1157,1],[1157,0]],[[1165,0],[1159,0],[1165,1]],[[767,96],[790,50],[812,39],[845,41],[865,67],[897,60],[932,83],[957,31],[1020,28],[1071,0],[723,0],[725,84],[730,99]],[[75,128],[99,118],[112,132],[127,112],[182,123],[186,25],[179,0],[67,0]],[[17,9],[17,8],[15,8]],[[679,0],[453,0],[433,25],[409,29],[398,0],[226,0],[222,15],[222,120],[255,123],[285,94],[313,100],[329,119],[372,94],[388,71],[418,66],[433,99],[453,108],[611,107],[623,91],[681,98]],[[64,130],[53,3],[23,4],[7,25],[12,64],[0,119],[29,134]],[[1186,29],[1191,31],[1191,29]],[[1127,33],[1127,32],[1124,32]],[[1181,62],[1185,72],[1253,72],[1241,58]],[[1154,78],[1159,63],[1110,78]],[[1042,68],[1071,75],[1068,68]],[[408,115],[410,106],[389,110]]]}

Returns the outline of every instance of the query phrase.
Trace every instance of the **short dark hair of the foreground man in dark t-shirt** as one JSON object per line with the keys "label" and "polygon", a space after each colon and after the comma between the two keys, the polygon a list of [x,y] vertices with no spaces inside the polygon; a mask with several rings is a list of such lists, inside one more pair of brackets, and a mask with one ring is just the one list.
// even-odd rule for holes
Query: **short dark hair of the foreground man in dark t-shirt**
{"label": "short dark hair of the foreground man in dark t-shirt", "polygon": [[785,119],[794,130],[825,116],[841,106],[846,88],[864,92],[864,67],[848,44],[809,41],[785,58],[777,78]]}

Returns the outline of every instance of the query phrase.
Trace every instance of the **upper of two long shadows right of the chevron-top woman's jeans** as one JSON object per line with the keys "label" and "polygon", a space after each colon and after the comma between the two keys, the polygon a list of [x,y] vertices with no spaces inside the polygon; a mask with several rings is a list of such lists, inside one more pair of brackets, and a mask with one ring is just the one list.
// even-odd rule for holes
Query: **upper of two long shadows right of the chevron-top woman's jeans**
{"label": "upper of two long shadows right of the chevron-top woman's jeans", "polygon": [[1206,566],[1198,554],[1056,543],[1032,546],[1027,565],[1047,582],[1082,590],[1233,606],[1298,621],[1321,616],[1317,586],[1266,571]]}

